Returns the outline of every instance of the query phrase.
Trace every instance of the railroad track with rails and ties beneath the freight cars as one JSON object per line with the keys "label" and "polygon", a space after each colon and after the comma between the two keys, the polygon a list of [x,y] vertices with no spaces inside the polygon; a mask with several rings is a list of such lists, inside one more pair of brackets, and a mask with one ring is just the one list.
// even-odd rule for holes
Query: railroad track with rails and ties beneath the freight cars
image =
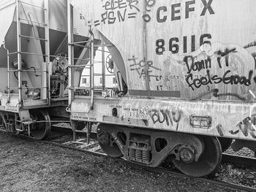
{"label": "railroad track with rails and ties beneath the freight cars", "polygon": [[[0,131],[4,132],[5,134],[10,134],[3,129],[0,129]],[[67,137],[67,135],[65,135],[65,136]],[[105,153],[100,151],[100,147],[97,145],[97,142],[94,142],[94,139],[90,143],[87,143],[87,142],[85,142],[86,139],[78,139],[76,142],[73,142],[71,140],[68,142],[67,141],[60,142],[59,139],[56,139],[57,137],[53,137],[53,140],[39,140],[39,141],[37,139],[33,139],[31,137],[28,137],[28,136],[22,135],[22,134],[15,135],[15,137],[19,137],[19,138],[23,138],[23,139],[30,139],[31,141],[34,141],[34,142],[42,142],[42,143],[48,144],[48,145],[55,145],[55,146],[59,146],[59,147],[68,148],[71,150],[78,150],[78,151],[89,153],[92,155],[98,155],[98,156],[110,158],[108,155],[106,155]],[[160,166],[154,167],[154,168],[148,167],[148,166],[143,166],[141,164],[136,164],[136,163],[126,161],[123,158],[115,158],[115,160],[121,161],[125,164],[132,164],[132,166],[135,166],[138,168],[143,167],[143,169],[146,169],[147,171],[150,171],[150,172],[167,173],[167,174],[172,174],[172,175],[175,175],[178,177],[191,178],[191,179],[199,181],[199,182],[212,183],[214,185],[219,185],[219,186],[222,186],[225,188],[231,188],[233,190],[238,190],[238,191],[253,191],[253,192],[256,191],[256,188],[251,188],[251,187],[245,186],[245,185],[238,185],[236,183],[227,183],[227,182],[222,182],[219,180],[213,180],[208,177],[192,178],[185,174],[181,174],[180,172],[178,172],[176,170],[167,169],[167,168],[160,167]],[[256,166],[256,158],[247,158],[247,157],[241,157],[241,156],[236,156],[236,155],[223,154],[222,161],[228,162],[228,163],[233,163],[233,164],[243,164],[246,166],[252,166],[252,165]]]}

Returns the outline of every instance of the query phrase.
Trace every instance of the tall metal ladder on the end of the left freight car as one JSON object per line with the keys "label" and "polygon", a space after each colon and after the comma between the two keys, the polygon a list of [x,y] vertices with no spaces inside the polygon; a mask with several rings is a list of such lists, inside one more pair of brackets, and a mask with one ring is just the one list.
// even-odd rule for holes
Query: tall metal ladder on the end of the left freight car
{"label": "tall metal ladder on the end of the left freight car", "polygon": [[[7,85],[7,91],[8,91],[8,101],[10,101],[10,93],[11,90],[14,89],[18,89],[18,103],[19,103],[19,107],[23,107],[22,105],[22,81],[21,81],[21,76],[22,76],[22,72],[31,72],[31,69],[22,69],[22,61],[21,61],[21,55],[24,54],[28,54],[28,55],[42,55],[45,56],[45,69],[38,71],[42,74],[46,74],[45,75],[45,81],[48,81],[48,86],[46,87],[26,87],[26,88],[40,88],[40,89],[45,89],[47,91],[48,89],[48,104],[50,104],[50,76],[47,75],[48,74],[48,64],[50,64],[50,42],[49,42],[49,36],[50,36],[50,32],[49,32],[49,12],[48,12],[48,0],[44,1],[44,7],[39,7],[36,6],[34,4],[29,4],[27,2],[24,1],[20,1],[20,0],[15,0],[15,4],[16,4],[16,22],[17,22],[17,52],[14,53],[9,53],[9,51],[7,50],[7,73],[8,73],[8,85]],[[42,9],[45,12],[45,22],[44,23],[39,23],[36,20],[29,20],[29,19],[24,19],[24,18],[20,18],[20,7],[23,6],[23,4],[26,4],[27,6],[31,6],[34,7],[36,9]],[[30,36],[26,36],[21,34],[20,31],[20,21],[27,21],[29,23],[29,25],[33,25],[36,26],[36,24],[38,24],[39,26],[44,26],[45,28],[45,38],[39,38],[39,37],[30,37]],[[37,39],[40,41],[45,42],[45,54],[39,54],[39,53],[26,53],[23,52],[21,50],[21,39],[22,38],[26,38],[26,39]],[[16,55],[17,54],[17,58],[18,58],[18,69],[10,69],[10,55]],[[12,88],[10,86],[10,72],[18,72],[18,87],[14,87]],[[47,78],[48,77],[48,78]],[[45,82],[45,85],[47,85],[47,82]]]}

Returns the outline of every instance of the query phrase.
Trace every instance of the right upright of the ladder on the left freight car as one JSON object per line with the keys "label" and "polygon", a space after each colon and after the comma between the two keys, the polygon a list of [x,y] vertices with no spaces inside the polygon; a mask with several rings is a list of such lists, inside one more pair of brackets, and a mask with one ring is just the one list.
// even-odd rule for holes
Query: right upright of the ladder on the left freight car
{"label": "right upright of the ladder on the left freight car", "polygon": [[[49,0],[45,0],[45,63],[48,66],[48,78],[45,79],[45,85],[48,84],[48,104],[50,105],[50,31],[49,31]],[[45,89],[45,94],[47,94],[47,88]],[[43,96],[47,97],[47,96]],[[45,98],[44,98],[45,99]]]}

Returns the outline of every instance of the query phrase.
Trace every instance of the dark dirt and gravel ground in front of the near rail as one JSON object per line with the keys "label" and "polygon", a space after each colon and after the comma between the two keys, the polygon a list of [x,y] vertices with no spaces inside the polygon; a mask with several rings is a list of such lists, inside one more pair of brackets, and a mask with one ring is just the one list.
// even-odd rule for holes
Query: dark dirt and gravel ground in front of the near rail
{"label": "dark dirt and gravel ground in front of the near rail", "polygon": [[231,191],[0,133],[0,191]]}

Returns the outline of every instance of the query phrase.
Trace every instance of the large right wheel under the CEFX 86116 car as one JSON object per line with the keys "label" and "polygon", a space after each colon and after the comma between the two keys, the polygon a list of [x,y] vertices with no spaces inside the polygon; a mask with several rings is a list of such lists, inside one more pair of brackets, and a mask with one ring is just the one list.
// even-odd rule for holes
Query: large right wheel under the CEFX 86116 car
{"label": "large right wheel under the CEFX 86116 car", "polygon": [[[222,146],[217,137],[200,136],[204,143],[204,150],[197,162],[173,160],[176,168],[191,177],[204,177],[214,172],[222,160]],[[189,153],[187,153],[189,155]]]}

